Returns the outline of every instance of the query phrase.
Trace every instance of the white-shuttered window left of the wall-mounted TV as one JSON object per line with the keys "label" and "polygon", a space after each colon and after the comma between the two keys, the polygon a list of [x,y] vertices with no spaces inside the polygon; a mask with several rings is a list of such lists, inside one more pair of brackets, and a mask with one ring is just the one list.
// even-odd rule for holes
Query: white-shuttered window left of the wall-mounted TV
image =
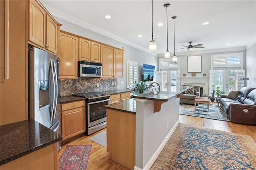
{"label": "white-shuttered window left of the wall-mounted TV", "polygon": [[133,85],[138,81],[138,62],[127,60],[127,86]]}

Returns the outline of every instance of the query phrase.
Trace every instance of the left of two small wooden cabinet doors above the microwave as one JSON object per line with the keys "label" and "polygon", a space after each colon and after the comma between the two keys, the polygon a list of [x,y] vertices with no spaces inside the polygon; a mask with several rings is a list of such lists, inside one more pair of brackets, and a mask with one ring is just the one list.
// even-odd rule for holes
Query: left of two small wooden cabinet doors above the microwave
{"label": "left of two small wooden cabinet doors above the microwave", "polygon": [[79,60],[91,61],[91,41],[79,38]]}

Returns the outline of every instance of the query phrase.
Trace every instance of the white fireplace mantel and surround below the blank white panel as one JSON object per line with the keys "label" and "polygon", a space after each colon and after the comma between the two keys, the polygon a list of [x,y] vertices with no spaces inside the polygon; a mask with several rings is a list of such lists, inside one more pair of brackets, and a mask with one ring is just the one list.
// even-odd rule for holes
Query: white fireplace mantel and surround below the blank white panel
{"label": "white fireplace mantel and surround below the blank white panel", "polygon": [[181,85],[199,85],[203,87],[203,95],[209,94],[209,77],[181,77]]}

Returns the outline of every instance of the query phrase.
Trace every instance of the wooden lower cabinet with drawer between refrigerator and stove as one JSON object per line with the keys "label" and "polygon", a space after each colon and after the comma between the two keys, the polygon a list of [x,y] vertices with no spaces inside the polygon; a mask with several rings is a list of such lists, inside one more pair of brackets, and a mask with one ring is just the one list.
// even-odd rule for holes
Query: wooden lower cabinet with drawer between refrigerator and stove
{"label": "wooden lower cabinet with drawer between refrigerator and stove", "polygon": [[61,112],[62,143],[85,132],[85,100],[58,105]]}

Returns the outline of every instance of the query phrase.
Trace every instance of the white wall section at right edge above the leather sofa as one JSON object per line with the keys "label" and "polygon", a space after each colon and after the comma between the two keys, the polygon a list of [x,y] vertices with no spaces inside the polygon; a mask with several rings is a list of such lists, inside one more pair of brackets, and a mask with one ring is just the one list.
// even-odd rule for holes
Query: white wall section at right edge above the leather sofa
{"label": "white wall section at right edge above the leather sofa", "polygon": [[256,88],[256,42],[246,49],[245,65],[245,77],[250,78],[245,81],[246,86]]}

